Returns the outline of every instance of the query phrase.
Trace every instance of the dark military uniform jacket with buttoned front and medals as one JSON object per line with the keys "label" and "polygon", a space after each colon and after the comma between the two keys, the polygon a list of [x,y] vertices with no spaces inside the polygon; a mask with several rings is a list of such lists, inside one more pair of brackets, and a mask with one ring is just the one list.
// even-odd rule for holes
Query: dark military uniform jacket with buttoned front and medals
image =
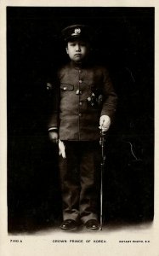
{"label": "dark military uniform jacket with buttoned front and medals", "polygon": [[61,140],[99,140],[100,116],[112,119],[116,111],[117,96],[106,68],[71,61],[58,79],[48,129],[57,127]]}

